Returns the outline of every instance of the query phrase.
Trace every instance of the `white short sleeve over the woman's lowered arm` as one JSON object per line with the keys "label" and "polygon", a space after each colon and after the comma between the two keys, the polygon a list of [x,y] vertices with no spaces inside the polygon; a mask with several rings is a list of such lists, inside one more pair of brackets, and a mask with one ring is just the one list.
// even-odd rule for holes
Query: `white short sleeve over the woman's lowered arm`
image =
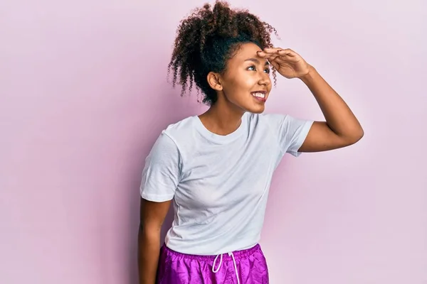
{"label": "white short sleeve over the woman's lowered arm", "polygon": [[139,187],[141,197],[154,202],[172,200],[180,175],[179,149],[163,131],[145,159]]}

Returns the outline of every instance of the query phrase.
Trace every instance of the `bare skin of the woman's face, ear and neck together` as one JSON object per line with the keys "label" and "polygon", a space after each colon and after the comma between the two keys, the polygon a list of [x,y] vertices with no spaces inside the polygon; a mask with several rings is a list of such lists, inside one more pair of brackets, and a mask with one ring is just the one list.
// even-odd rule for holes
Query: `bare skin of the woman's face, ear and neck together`
{"label": "bare skin of the woman's face, ear and neck together", "polygon": [[216,90],[218,100],[199,116],[209,131],[227,135],[238,128],[246,111],[255,114],[264,111],[265,102],[260,102],[251,94],[264,91],[268,98],[271,91],[270,66],[266,58],[257,54],[260,50],[254,43],[244,43],[228,60],[223,74],[209,72],[206,80]]}

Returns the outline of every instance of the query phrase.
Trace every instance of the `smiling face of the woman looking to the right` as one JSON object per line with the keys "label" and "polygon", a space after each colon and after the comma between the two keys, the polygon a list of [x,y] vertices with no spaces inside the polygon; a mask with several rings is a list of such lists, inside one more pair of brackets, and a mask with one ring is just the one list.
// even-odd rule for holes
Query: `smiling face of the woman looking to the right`
{"label": "smiling face of the woman looking to the right", "polygon": [[226,72],[220,75],[221,90],[218,100],[228,107],[260,114],[271,90],[270,65],[260,58],[261,48],[255,43],[244,43],[228,60]]}

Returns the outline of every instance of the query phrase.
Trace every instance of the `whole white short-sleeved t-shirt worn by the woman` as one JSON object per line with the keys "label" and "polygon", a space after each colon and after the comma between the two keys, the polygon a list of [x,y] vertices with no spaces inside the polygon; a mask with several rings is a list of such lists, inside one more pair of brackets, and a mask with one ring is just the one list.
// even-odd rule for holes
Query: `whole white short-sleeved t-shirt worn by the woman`
{"label": "whole white short-sleeved t-shirt worn by the woman", "polygon": [[169,249],[217,255],[258,244],[273,172],[285,153],[300,155],[311,125],[247,112],[226,136],[206,129],[198,116],[162,131],[145,160],[140,194],[154,202],[174,199]]}

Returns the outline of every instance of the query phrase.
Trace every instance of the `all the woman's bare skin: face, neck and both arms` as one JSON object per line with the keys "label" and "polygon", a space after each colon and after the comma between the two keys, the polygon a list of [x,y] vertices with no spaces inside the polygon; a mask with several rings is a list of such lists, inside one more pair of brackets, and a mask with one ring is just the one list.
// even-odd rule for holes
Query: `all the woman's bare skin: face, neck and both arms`
{"label": "all the woman's bare skin: face, neck and both arms", "polygon": [[[236,131],[246,111],[260,114],[265,102],[251,92],[271,90],[269,64],[288,79],[301,80],[315,97],[325,121],[315,121],[300,147],[300,152],[319,152],[342,148],[359,141],[364,131],[356,116],[339,94],[300,55],[290,49],[261,49],[244,43],[227,62],[226,72],[210,72],[206,77],[218,94],[217,102],[199,118],[206,129],[218,135]],[[159,259],[160,229],[171,201],[141,200],[139,226],[139,283],[154,284]]]}

